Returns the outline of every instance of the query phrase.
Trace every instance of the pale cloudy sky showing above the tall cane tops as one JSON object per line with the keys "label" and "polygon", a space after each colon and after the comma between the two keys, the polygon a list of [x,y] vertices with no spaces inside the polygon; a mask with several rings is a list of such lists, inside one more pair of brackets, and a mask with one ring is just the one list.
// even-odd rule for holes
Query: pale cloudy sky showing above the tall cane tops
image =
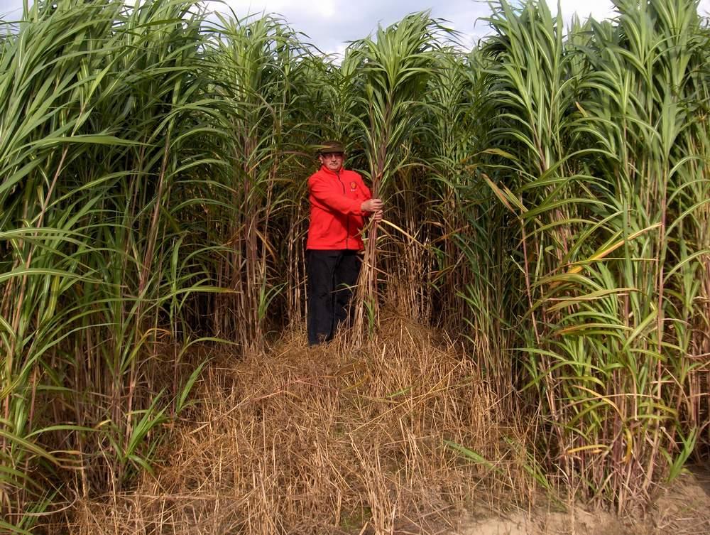
{"label": "pale cloudy sky showing above the tall cane tops", "polygon": [[[305,33],[303,40],[325,53],[342,53],[347,42],[366,37],[378,24],[389,26],[408,13],[430,9],[435,18],[449,21],[446,26],[461,33],[461,44],[470,48],[488,31],[484,21],[490,13],[486,1],[479,0],[223,0],[209,1],[210,9],[226,11],[231,6],[237,16],[253,13],[278,13],[295,31]],[[547,0],[553,13],[557,0]],[[560,0],[562,16],[569,21],[574,13],[584,19],[613,16],[608,0]],[[701,0],[699,13],[710,13],[710,0]],[[0,18],[16,20],[22,13],[22,0],[0,0]]]}

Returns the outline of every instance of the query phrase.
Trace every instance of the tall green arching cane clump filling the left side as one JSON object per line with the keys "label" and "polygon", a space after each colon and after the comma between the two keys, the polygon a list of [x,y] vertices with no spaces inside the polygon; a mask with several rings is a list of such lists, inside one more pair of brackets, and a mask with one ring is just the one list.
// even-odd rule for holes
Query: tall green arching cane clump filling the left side
{"label": "tall green arching cane clump filling the left side", "polygon": [[216,136],[204,129],[193,4],[59,1],[24,18],[0,56],[0,507],[11,531],[38,518],[23,512],[55,492],[53,472],[76,468],[87,495],[119,490],[150,462],[169,405],[159,392],[176,386],[157,342],[178,333],[175,300],[195,277],[209,282],[182,252],[200,239],[170,200],[188,170],[208,173]]}

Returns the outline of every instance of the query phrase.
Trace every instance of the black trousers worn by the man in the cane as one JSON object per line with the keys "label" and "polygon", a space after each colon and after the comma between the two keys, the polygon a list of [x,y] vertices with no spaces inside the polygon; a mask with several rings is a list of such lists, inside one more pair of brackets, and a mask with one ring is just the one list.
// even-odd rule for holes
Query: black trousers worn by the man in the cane
{"label": "black trousers worn by the man in the cane", "polygon": [[361,263],[350,249],[306,252],[309,345],[331,340],[338,326],[351,320],[350,301]]}

